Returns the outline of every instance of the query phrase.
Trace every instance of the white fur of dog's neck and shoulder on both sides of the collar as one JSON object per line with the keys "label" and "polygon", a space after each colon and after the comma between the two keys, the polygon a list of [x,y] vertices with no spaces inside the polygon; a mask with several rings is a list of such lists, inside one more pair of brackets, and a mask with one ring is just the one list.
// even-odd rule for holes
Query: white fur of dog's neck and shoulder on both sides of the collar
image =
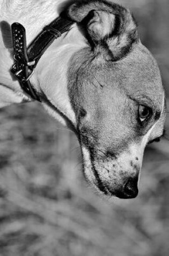
{"label": "white fur of dog's neck and shoulder on both sides of the collar", "polygon": [[[49,3],[50,2],[50,3]],[[6,5],[3,7],[6,16],[8,13],[15,11],[15,17],[9,15],[8,22],[1,23],[2,34],[0,35],[1,47],[1,73],[0,73],[0,107],[10,105],[11,103],[20,103],[25,101],[32,101],[30,96],[26,95],[21,89],[19,82],[14,80],[9,73],[13,64],[13,47],[10,35],[10,25],[13,22],[19,22],[26,28],[27,44],[29,45],[37,34],[48,25],[52,20],[58,16],[58,5],[64,1],[46,1],[42,5],[38,5],[39,10],[32,8],[32,4],[28,4],[27,8],[23,6],[26,13],[21,13],[21,6],[17,8],[17,4]],[[30,11],[29,11],[30,9]],[[37,18],[37,13],[40,13]],[[31,19],[30,19],[31,13]],[[18,18],[16,18],[18,17]],[[77,39],[78,38],[78,39]],[[35,68],[35,73],[31,78],[31,84],[41,95],[67,115],[71,121],[75,122],[74,111],[71,108],[68,92],[67,92],[67,67],[69,60],[76,51],[84,47],[84,39],[82,34],[78,32],[76,25],[74,25],[67,34],[63,34],[60,39],[54,41],[45,54],[40,59]],[[42,97],[42,104],[48,110],[50,107]],[[50,114],[55,115],[58,119],[56,111],[49,110]],[[60,116],[60,114],[58,114]],[[62,119],[62,118],[61,118]],[[61,121],[61,120],[60,120]],[[62,122],[64,122],[62,120]]]}

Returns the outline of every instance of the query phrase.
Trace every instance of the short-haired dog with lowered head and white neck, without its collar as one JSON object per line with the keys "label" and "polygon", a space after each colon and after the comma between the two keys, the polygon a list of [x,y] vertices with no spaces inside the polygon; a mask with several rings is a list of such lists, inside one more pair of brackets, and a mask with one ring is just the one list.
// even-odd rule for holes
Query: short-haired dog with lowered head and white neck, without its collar
{"label": "short-haired dog with lowered head and white neck, without its collar", "polygon": [[131,12],[112,1],[1,0],[0,106],[32,101],[11,74],[10,26],[29,45],[64,13],[69,31],[43,54],[31,84],[47,112],[76,133],[86,181],[100,195],[135,198],[145,146],[164,132],[165,92]]}

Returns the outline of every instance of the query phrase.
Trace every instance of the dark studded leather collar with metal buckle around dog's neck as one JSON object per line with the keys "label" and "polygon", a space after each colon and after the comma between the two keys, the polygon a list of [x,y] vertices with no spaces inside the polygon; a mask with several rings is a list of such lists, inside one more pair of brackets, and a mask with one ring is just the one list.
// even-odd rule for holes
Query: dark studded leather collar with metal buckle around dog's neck
{"label": "dark studded leather collar with metal buckle around dog's neck", "polygon": [[26,45],[25,27],[20,23],[11,25],[13,38],[14,65],[11,72],[18,79],[24,92],[32,99],[41,101],[40,96],[33,88],[30,78],[42,54],[48,49],[55,39],[70,30],[74,22],[64,17],[58,17],[45,26],[38,36],[28,46]]}

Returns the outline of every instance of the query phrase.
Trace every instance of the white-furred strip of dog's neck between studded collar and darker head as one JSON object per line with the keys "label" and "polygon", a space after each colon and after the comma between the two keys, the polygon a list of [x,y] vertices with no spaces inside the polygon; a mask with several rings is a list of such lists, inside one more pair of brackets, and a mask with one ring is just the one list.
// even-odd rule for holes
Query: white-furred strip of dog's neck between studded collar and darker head
{"label": "white-furred strip of dog's neck between studded collar and darker head", "polygon": [[[68,33],[55,40],[43,54],[31,78],[31,84],[42,95],[42,104],[57,119],[57,112],[51,111],[43,95],[56,109],[75,123],[75,113],[68,95],[67,73],[71,56],[84,46],[86,44],[82,34],[77,30],[77,26],[73,25]],[[65,124],[61,116],[59,120]]]}

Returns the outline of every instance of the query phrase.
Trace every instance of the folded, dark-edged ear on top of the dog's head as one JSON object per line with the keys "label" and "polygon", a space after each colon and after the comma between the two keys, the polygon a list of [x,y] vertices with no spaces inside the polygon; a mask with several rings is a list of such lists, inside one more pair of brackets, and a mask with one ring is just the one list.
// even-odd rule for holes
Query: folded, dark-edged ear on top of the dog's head
{"label": "folded, dark-edged ear on top of the dog's head", "polygon": [[137,25],[130,11],[98,0],[78,1],[67,9],[68,17],[82,26],[95,54],[119,60],[138,42]]}

